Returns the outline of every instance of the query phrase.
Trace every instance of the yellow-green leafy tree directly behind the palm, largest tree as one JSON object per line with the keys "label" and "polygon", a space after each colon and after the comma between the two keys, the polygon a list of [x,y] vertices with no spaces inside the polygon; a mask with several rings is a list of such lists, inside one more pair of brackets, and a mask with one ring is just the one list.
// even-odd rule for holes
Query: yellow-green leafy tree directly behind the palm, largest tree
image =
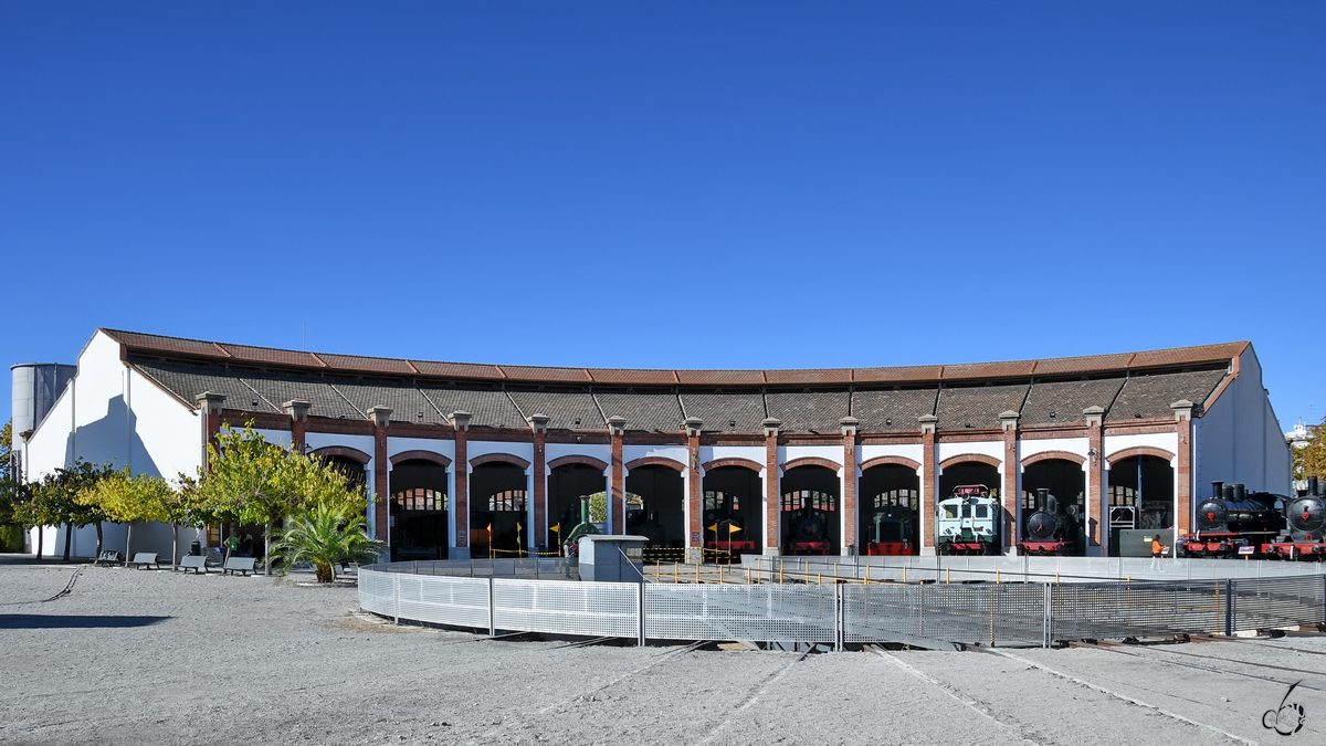
{"label": "yellow-green leafy tree directly behind the palm, largest tree", "polygon": [[207,447],[208,467],[199,470],[199,507],[221,520],[261,523],[268,558],[272,527],[286,515],[324,502],[346,510],[363,507],[362,488],[334,466],[271,443],[251,426],[227,427],[216,442]]}

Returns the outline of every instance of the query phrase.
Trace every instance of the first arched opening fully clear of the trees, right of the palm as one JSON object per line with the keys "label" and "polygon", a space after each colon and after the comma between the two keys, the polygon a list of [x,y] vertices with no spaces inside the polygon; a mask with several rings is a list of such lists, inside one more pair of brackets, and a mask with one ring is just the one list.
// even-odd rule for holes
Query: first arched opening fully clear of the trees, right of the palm
{"label": "first arched opening fully clear of the trees, right of the palm", "polygon": [[402,461],[387,475],[391,494],[391,559],[447,559],[447,467]]}

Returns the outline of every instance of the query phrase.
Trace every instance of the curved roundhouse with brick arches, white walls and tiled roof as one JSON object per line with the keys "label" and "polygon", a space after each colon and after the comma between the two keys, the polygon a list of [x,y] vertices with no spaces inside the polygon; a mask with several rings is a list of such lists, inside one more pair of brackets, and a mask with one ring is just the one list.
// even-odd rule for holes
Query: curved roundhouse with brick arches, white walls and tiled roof
{"label": "curved roundhouse with brick arches, white walls and tiled roof", "polygon": [[[690,561],[715,540],[784,552],[786,515],[802,506],[829,518],[829,551],[842,555],[865,554],[876,508],[915,508],[924,555],[935,552],[936,500],[959,485],[1000,496],[1006,551],[1046,487],[1079,506],[1083,554],[1105,555],[1111,524],[1187,530],[1212,479],[1290,488],[1289,447],[1249,342],[910,368],[635,370],[98,329],[69,373],[15,366],[27,479],[76,458],[192,474],[208,438],[252,423],[362,479],[370,528],[396,559],[556,551],[579,498],[595,492],[609,531],[647,528]],[[719,536],[705,520],[716,508],[740,528]],[[45,531],[48,551],[62,551],[66,532]],[[139,536],[170,551],[167,527]],[[219,532],[196,538],[215,544]],[[88,555],[94,532],[72,540]]]}

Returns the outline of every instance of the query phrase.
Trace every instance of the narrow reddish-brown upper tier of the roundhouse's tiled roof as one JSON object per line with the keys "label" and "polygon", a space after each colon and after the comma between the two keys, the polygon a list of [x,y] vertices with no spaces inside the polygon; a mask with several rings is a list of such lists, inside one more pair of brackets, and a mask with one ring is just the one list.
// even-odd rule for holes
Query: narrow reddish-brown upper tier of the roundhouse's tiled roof
{"label": "narrow reddish-brown upper tier of the roundhouse's tiled roof", "polygon": [[1113,370],[1167,368],[1227,362],[1248,348],[1248,342],[1160,349],[1150,352],[1020,360],[1004,362],[965,362],[956,365],[912,365],[895,368],[823,368],[794,370],[650,370],[609,368],[542,368],[532,365],[487,365],[398,360],[351,354],[309,353],[227,342],[210,342],[163,337],[139,332],[102,329],[127,348],[130,354],[155,354],[227,360],[346,373],[379,373],[426,376],[451,380],[575,382],[614,385],[680,385],[680,386],[762,386],[770,385],[847,385],[847,384],[922,384],[936,381],[979,381],[1030,376],[1101,374]]}

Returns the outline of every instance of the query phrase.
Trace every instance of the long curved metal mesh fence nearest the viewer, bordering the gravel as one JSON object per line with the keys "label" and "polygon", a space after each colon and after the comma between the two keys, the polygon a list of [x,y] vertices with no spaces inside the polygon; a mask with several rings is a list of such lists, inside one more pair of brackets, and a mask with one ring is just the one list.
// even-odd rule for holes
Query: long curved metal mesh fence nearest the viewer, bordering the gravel
{"label": "long curved metal mesh fence nearest the viewer, bordering the gravel", "polygon": [[[456,563],[434,564],[361,568],[359,605],[407,620],[511,632],[638,637],[643,613],[644,636],[662,640],[922,645],[1049,645],[1326,624],[1326,579],[1319,575],[1062,584],[635,584],[457,577],[447,575],[460,572]],[[520,571],[469,567],[479,573]],[[561,571],[565,565],[549,568]]]}

